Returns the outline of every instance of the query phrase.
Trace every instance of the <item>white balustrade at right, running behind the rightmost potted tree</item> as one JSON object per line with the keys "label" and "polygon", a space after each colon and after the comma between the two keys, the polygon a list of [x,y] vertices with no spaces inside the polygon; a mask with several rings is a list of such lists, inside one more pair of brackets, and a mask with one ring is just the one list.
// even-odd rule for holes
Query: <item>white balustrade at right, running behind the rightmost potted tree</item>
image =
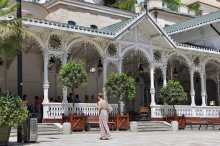
{"label": "white balustrade at right, running behind the rightmost potted tree", "polygon": [[[173,114],[173,106],[169,105],[155,105],[151,106],[152,118],[163,118],[166,115]],[[202,117],[202,118],[219,118],[220,106],[189,106],[189,105],[175,105],[177,116],[184,115],[185,117]]]}

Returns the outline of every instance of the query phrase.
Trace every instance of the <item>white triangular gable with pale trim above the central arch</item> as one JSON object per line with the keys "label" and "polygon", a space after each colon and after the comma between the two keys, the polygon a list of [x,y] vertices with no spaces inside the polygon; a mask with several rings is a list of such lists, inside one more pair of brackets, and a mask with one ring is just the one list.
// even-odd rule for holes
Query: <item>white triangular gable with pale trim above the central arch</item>
{"label": "white triangular gable with pale trim above the central arch", "polygon": [[156,24],[153,18],[148,14],[142,19],[128,27],[118,36],[119,40],[129,42],[149,43],[162,48],[174,48],[175,43],[169,36]]}

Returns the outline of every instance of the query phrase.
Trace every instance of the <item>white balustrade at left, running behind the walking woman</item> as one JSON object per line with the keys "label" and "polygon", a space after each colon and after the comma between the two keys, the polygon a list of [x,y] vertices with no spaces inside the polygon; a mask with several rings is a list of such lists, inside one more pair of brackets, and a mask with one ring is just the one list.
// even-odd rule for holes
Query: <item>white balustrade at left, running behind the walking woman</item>
{"label": "white balustrade at left, running behind the walking woman", "polygon": [[[115,115],[118,111],[118,104],[111,104],[113,111],[111,114]],[[98,109],[96,103],[48,103],[43,104],[43,118],[44,119],[62,119],[62,114],[76,113],[77,115],[97,116]]]}

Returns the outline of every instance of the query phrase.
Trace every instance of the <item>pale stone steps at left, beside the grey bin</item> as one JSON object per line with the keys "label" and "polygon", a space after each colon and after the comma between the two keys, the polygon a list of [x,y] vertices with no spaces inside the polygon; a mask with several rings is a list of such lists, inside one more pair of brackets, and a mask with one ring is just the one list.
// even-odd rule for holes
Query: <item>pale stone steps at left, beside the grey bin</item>
{"label": "pale stone steps at left, beside the grey bin", "polygon": [[[38,123],[38,135],[58,135],[62,134],[62,126],[56,123]],[[11,129],[11,137],[17,136],[17,129]]]}

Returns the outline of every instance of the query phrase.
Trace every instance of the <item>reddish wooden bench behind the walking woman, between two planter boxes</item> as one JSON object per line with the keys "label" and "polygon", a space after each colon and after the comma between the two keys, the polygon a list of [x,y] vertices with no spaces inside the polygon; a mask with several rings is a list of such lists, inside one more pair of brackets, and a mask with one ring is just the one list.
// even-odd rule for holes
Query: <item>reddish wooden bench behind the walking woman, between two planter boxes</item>
{"label": "reddish wooden bench behind the walking woman, between two planter boxes", "polygon": [[[98,116],[87,116],[86,117],[86,130],[89,131],[91,127],[99,127]],[[109,117],[108,126],[110,130],[116,129],[116,122],[114,117]]]}

